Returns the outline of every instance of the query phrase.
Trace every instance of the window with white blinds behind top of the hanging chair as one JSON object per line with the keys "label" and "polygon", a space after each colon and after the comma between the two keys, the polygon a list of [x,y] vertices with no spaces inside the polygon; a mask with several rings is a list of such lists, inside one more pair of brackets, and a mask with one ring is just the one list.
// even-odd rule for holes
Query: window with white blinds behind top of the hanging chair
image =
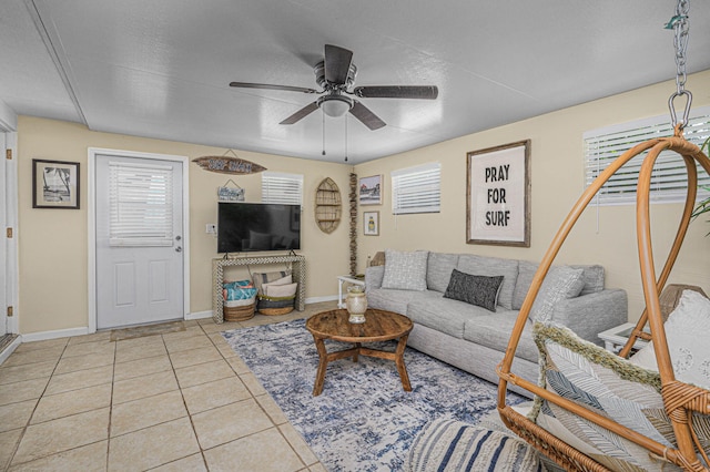
{"label": "window with white blinds behind top of the hanging chair", "polygon": [[[585,188],[617,157],[635,145],[656,137],[672,136],[668,116],[656,116],[589,131],[585,142]],[[710,136],[710,106],[696,109],[683,135],[701,146]],[[633,157],[617,172],[597,194],[599,205],[626,205],[636,203],[636,186],[646,153]],[[710,194],[710,177],[698,167],[699,197]],[[653,165],[651,202],[684,202],[688,188],[686,164],[674,152],[663,151]]]}

